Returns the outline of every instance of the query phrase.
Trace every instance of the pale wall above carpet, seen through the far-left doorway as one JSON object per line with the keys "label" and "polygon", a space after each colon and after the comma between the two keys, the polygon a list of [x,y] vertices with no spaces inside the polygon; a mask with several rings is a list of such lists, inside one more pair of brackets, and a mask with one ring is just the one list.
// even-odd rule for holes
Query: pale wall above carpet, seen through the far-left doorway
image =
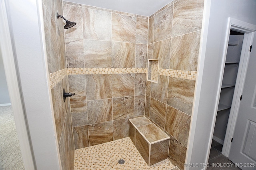
{"label": "pale wall above carpet, seen through the far-left doorway", "polygon": [[6,82],[5,72],[4,72],[4,63],[3,63],[2,55],[0,51],[0,105],[9,104],[9,103],[10,103],[10,97],[8,93],[8,87],[7,87],[7,82]]}

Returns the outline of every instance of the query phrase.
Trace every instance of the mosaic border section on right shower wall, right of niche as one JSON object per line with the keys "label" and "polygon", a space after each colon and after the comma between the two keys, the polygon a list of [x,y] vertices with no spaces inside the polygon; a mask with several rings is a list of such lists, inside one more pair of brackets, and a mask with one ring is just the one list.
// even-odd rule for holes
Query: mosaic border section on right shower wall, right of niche
{"label": "mosaic border section on right shower wall, right of niche", "polygon": [[188,80],[196,80],[196,71],[186,71],[186,70],[172,70],[172,69],[164,69],[159,68],[158,74],[162,76],[176,77],[176,78],[184,78]]}

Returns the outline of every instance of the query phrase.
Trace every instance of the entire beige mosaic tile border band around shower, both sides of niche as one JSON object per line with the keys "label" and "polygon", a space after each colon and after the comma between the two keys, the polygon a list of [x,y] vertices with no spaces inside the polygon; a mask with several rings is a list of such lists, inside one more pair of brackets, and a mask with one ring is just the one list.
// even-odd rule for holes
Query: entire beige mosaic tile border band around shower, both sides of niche
{"label": "entire beige mosaic tile border band around shower, both sides of niche", "polygon": [[[65,76],[79,74],[134,74],[148,73],[148,68],[64,68],[49,74],[50,88],[54,88]],[[158,75],[196,80],[196,71],[158,69]]]}

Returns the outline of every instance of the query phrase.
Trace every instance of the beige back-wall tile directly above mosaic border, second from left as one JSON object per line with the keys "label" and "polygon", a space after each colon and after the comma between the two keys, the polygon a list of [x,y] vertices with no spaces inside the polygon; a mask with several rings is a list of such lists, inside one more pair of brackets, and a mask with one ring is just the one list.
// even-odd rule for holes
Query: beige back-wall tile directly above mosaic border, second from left
{"label": "beige back-wall tile directly above mosaic border, second from left", "polygon": [[111,41],[84,39],[84,66],[86,68],[112,67]]}

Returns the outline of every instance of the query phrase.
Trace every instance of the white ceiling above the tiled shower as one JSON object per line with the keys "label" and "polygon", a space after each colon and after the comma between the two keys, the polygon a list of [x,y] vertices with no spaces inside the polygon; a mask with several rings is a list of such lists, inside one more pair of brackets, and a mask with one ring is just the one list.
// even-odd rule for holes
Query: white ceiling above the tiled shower
{"label": "white ceiling above the tiled shower", "polygon": [[85,4],[116,10],[121,12],[128,12],[142,16],[151,16],[162,7],[166,6],[173,0],[66,0],[78,4]]}

